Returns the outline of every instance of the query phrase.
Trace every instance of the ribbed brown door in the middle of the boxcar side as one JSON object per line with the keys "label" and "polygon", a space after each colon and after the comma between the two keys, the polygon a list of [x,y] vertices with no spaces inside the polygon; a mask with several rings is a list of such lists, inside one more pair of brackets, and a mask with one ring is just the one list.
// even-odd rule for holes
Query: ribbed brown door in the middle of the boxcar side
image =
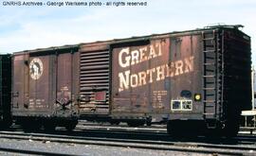
{"label": "ribbed brown door in the middle of the boxcar side", "polygon": [[[80,86],[83,97],[80,104],[81,113],[109,112],[108,50],[81,52]],[[97,99],[96,95],[101,97],[101,100]]]}

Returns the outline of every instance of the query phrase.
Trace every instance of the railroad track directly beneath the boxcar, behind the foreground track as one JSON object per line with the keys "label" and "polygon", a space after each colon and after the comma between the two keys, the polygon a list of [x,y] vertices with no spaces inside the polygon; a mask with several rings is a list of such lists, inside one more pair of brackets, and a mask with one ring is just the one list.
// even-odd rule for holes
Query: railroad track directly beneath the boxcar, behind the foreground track
{"label": "railroad track directly beneath the boxcar, behind the foreground track", "polygon": [[[12,130],[21,130],[18,127]],[[44,133],[44,130],[39,131]],[[73,135],[73,136],[93,136],[93,137],[108,137],[108,138],[123,138],[123,139],[141,139],[141,140],[159,140],[159,141],[196,141],[211,144],[255,144],[256,135],[240,133],[237,137],[232,139],[227,138],[209,138],[204,136],[192,137],[192,138],[171,138],[166,129],[163,126],[155,127],[138,127],[131,128],[127,126],[112,126],[112,125],[97,125],[79,124],[76,130],[71,133],[64,130],[63,128],[58,128],[53,134],[63,134],[63,135]]]}

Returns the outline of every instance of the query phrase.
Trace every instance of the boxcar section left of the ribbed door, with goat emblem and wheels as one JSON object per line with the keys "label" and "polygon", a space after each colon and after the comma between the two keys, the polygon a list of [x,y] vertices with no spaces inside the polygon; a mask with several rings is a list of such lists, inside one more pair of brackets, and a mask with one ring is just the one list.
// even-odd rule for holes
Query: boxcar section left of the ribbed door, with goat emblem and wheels
{"label": "boxcar section left of the ribbed door, with goat emblem and wheels", "polygon": [[13,54],[12,116],[25,129],[72,130],[77,125],[77,50],[66,45]]}

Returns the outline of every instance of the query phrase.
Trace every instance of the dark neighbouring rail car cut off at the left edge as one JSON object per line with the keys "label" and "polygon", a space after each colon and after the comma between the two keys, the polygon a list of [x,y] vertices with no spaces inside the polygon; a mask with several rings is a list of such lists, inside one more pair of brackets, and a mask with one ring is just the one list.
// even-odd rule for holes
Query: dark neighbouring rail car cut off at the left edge
{"label": "dark neighbouring rail car cut off at the left edge", "polygon": [[0,127],[11,125],[11,58],[9,54],[0,55]]}

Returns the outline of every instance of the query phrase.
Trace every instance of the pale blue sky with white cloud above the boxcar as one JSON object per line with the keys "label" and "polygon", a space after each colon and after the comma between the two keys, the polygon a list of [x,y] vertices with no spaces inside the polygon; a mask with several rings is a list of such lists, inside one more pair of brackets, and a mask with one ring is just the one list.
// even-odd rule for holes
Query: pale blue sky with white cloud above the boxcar
{"label": "pale blue sky with white cloud above the boxcar", "polygon": [[255,0],[30,0],[35,1],[133,1],[147,2],[147,6],[13,7],[1,0],[0,53],[225,24],[245,26],[256,66]]}

